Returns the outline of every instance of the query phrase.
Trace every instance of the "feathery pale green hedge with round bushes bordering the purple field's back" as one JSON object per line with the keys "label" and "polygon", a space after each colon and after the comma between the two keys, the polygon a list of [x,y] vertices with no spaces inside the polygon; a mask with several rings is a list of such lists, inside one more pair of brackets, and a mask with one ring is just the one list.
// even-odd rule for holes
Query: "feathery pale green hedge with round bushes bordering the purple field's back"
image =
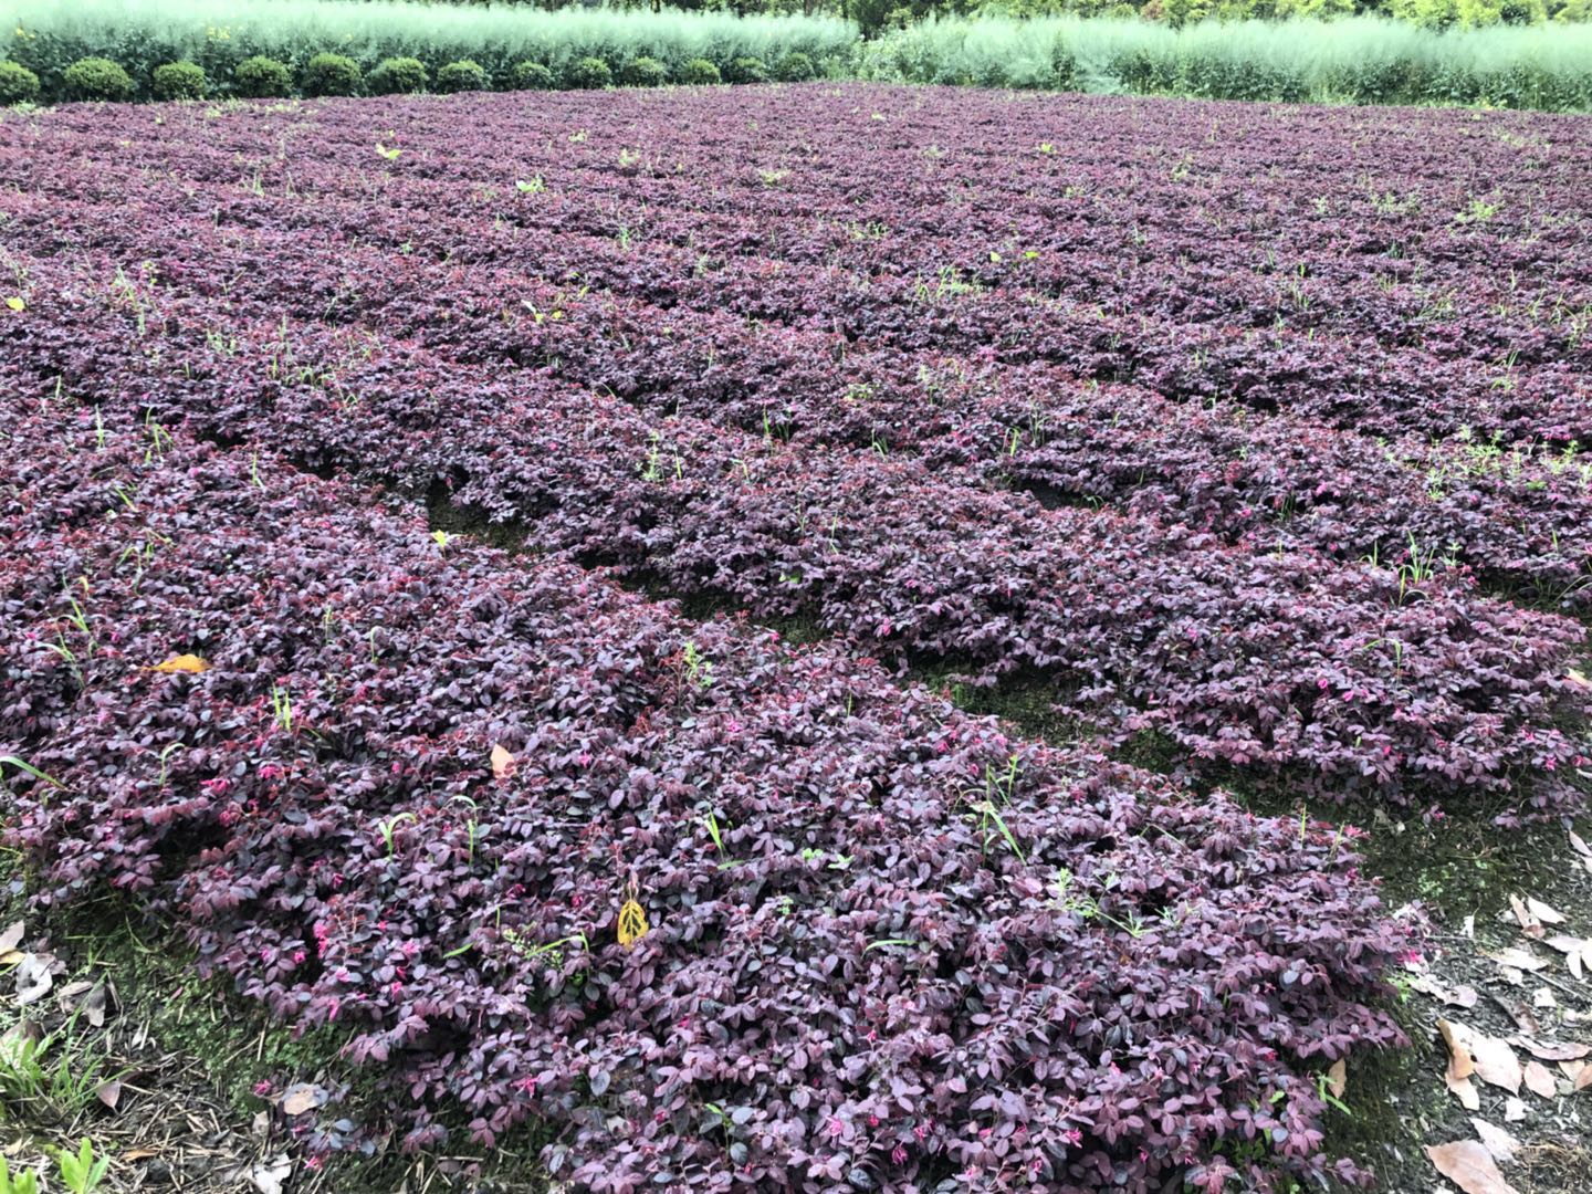
{"label": "feathery pale green hedge with round bushes bordering the purple field's back", "polygon": [[[856,25],[836,18],[385,0],[191,0],[181,6],[11,0],[11,8],[14,24],[6,22],[11,33],[0,53],[37,75],[38,89],[32,96],[32,83],[11,70],[10,80],[0,75],[0,99],[45,102],[186,96],[191,81],[162,88],[156,72],[193,64],[213,96],[860,76],[1240,100],[1592,108],[1592,27],[1579,24],[1436,30],[1385,18],[1184,25],[1108,16],[946,18],[858,40]],[[328,54],[336,56],[334,67]],[[99,62],[68,81],[84,59],[118,64],[127,83]]]}

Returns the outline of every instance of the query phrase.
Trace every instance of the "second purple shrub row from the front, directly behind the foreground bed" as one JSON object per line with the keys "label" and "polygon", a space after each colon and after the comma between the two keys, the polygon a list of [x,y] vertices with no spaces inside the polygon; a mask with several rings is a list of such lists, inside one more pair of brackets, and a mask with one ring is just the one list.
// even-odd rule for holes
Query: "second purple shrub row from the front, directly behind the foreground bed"
{"label": "second purple shrub row from the front, directly behind the foreground bed", "polygon": [[530,549],[901,664],[979,685],[1040,673],[1073,713],[1156,731],[1192,766],[1329,799],[1481,799],[1506,820],[1579,801],[1584,629],[1484,599],[1463,568],[1044,509],[963,470],[637,411],[365,328],[189,309],[140,331],[119,310],[118,336],[45,296],[24,314],[8,344],[33,392],[392,478],[514,524]]}

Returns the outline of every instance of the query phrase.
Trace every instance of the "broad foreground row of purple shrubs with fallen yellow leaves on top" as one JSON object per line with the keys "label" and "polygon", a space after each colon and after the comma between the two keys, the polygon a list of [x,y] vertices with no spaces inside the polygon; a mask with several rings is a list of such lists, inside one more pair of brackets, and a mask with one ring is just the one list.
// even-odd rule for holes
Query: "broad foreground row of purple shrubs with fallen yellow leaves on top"
{"label": "broad foreground row of purple shrubs with fallen yellow leaves on top", "polygon": [[6,431],[0,748],[62,785],[8,777],[8,842],[41,899],[124,890],[344,1025],[411,1146],[463,1105],[600,1191],[1360,1176],[1313,1071],[1399,1040],[1409,931],[1329,826],[269,454],[59,403]]}

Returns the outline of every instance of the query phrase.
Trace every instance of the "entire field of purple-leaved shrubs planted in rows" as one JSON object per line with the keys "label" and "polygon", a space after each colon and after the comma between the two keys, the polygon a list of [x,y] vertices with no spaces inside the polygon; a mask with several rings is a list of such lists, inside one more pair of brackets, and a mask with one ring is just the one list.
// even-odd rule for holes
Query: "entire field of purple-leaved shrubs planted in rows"
{"label": "entire field of purple-leaved shrubs planted in rows", "polygon": [[401,49],[0,123],[33,906],[339,1033],[315,1164],[1369,1181],[1356,826],[1586,806],[1592,123]]}

